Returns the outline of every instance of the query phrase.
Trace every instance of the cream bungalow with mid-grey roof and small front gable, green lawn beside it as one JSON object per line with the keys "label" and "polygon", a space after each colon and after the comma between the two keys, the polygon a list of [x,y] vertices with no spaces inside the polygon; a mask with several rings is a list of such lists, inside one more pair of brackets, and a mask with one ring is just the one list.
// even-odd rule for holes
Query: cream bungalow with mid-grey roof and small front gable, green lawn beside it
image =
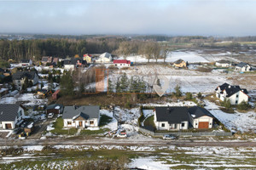
{"label": "cream bungalow with mid-grey roof and small front gable, green lawn beside it", "polygon": [[100,106],[65,106],[62,118],[64,127],[98,127],[100,122]]}

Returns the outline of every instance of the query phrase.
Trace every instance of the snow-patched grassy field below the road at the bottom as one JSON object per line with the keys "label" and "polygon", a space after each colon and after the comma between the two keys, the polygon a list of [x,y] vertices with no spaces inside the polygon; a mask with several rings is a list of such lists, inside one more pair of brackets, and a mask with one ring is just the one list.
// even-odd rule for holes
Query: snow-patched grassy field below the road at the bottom
{"label": "snow-patched grassy field below the road at the bottom", "polygon": [[[106,169],[108,164],[125,169],[136,167],[137,164],[134,165],[132,162],[137,160],[140,160],[139,166],[144,165],[143,168],[152,165],[158,165],[161,169],[255,169],[256,167],[255,148],[166,146],[158,149],[152,146],[152,149],[137,151],[125,146],[119,150],[92,148],[56,150],[51,146],[45,146],[42,151],[20,152],[20,155],[13,157],[13,160],[11,156],[9,159],[4,159],[6,156],[1,156],[0,159],[5,161],[0,161],[0,169],[84,169],[79,168],[81,167],[80,162],[86,165],[90,165],[88,162],[93,162],[97,165],[97,169],[104,169],[99,168],[102,165],[105,165]],[[3,154],[3,150],[1,153]],[[27,156],[31,156],[31,158],[27,159]],[[129,163],[131,163],[129,166],[125,166]]]}

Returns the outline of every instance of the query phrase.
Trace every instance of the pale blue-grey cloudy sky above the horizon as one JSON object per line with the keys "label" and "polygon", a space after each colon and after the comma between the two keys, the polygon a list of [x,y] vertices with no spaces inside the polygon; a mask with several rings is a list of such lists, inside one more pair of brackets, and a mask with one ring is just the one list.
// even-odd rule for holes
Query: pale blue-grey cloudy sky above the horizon
{"label": "pale blue-grey cloudy sky above the horizon", "polygon": [[0,0],[0,32],[256,36],[256,1]]}

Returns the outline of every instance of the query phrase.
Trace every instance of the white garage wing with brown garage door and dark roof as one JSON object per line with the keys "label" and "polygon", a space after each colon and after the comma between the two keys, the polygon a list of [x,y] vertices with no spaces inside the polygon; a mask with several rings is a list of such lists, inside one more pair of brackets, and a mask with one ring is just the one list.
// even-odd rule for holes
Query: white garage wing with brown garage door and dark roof
{"label": "white garage wing with brown garage door and dark roof", "polygon": [[194,128],[212,128],[212,114],[204,108],[193,106],[188,109],[189,122]]}

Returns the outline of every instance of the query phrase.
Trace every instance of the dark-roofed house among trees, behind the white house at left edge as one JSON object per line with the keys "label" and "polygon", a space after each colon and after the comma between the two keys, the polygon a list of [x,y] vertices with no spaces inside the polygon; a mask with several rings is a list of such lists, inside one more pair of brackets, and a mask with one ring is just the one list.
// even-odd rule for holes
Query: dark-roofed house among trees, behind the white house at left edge
{"label": "dark-roofed house among trees, behind the white house at left edge", "polygon": [[38,83],[38,72],[37,71],[17,71],[13,74],[13,82],[15,87],[20,90],[25,82],[25,79],[32,82],[32,85]]}

